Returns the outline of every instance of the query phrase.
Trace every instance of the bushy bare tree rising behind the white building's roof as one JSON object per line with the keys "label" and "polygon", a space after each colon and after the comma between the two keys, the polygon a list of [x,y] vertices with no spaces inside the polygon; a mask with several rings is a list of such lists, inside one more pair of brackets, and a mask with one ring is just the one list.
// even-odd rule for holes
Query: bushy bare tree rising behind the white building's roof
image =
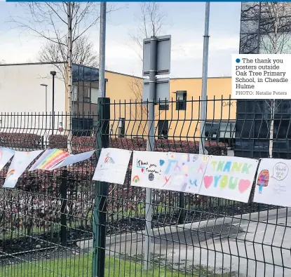
{"label": "bushy bare tree rising behind the white building's roof", "polygon": [[[39,51],[39,62],[61,62],[67,59],[66,49],[67,37],[64,39],[64,43],[57,44],[51,41],[41,48]],[[74,47],[72,48],[72,63],[76,65],[84,65],[87,67],[97,67],[98,66],[98,55],[94,50],[94,45],[88,40],[88,36],[84,34],[80,36],[74,42]],[[61,74],[61,79],[65,81],[66,79],[66,65],[65,64],[55,64],[57,70]]]}

